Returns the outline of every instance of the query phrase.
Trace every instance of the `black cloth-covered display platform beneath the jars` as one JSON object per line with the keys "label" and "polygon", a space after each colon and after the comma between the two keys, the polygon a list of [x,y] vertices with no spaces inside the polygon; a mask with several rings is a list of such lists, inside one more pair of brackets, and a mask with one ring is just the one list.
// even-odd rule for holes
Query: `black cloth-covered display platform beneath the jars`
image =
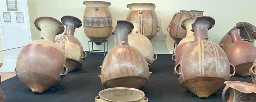
{"label": "black cloth-covered display platform beneath the jars", "polygon": [[[174,62],[171,54],[158,54],[158,59],[149,68],[152,72],[149,82],[142,89],[149,102],[222,102],[218,90],[216,97],[200,99],[182,88],[173,73]],[[103,55],[89,55],[79,72],[70,72],[54,93],[43,92],[35,95],[17,76],[5,80],[0,88],[7,102],[95,102],[98,92],[105,89],[98,78]],[[251,78],[233,77],[230,80],[251,82]],[[227,92],[228,94],[228,92]],[[226,99],[229,95],[226,94]]]}

